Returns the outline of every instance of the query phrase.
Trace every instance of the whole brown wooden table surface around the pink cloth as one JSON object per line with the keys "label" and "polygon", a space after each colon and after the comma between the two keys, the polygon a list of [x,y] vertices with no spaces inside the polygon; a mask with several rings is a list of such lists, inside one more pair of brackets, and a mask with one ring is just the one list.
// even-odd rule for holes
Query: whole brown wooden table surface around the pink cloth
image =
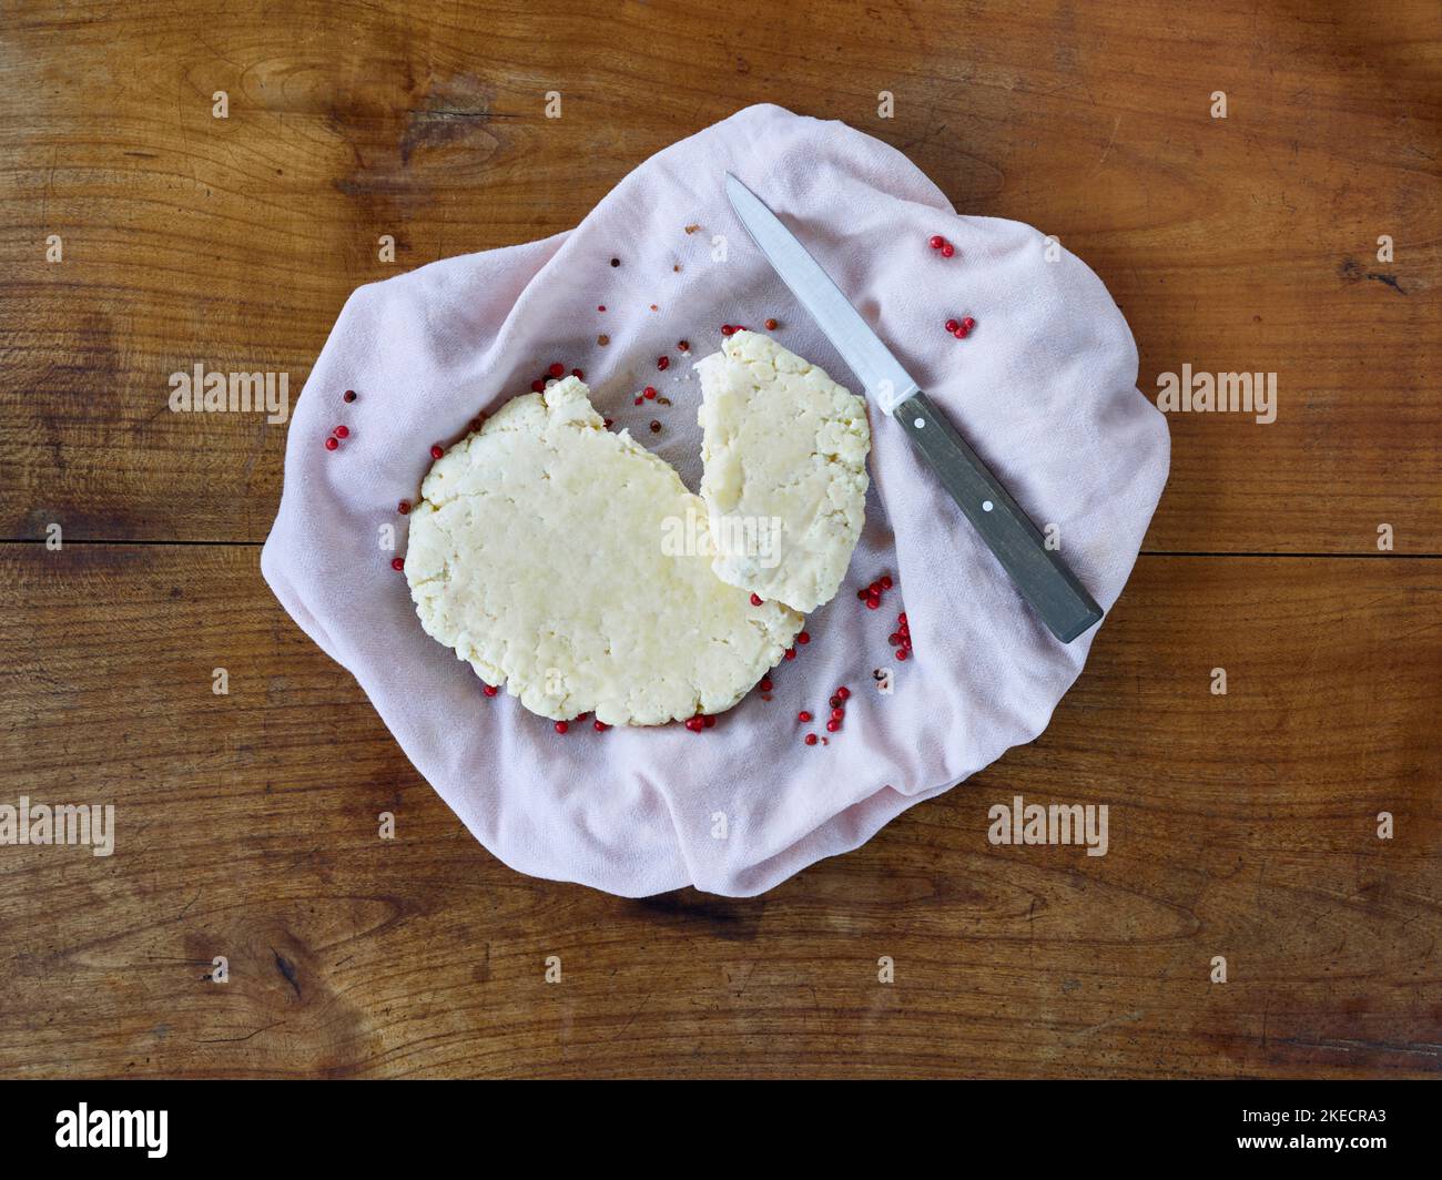
{"label": "whole brown wooden table surface around the pink cloth", "polygon": [[[121,831],[0,847],[0,1072],[1442,1070],[1438,6],[702,9],[7,6],[0,802]],[[1057,234],[1148,394],[1273,371],[1278,420],[1172,415],[1086,672],[962,789],[756,900],[529,880],[262,583],[284,428],[166,378],[298,391],[355,286],[567,228],[763,101]],[[1107,803],[1110,853],[989,845],[1018,791]]]}

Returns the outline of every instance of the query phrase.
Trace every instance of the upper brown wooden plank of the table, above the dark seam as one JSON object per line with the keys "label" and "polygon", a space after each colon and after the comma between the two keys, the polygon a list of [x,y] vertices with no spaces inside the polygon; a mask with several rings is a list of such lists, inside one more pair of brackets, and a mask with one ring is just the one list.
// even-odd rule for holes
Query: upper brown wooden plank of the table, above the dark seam
{"label": "upper brown wooden plank of the table, above the dark seam", "polygon": [[1429,0],[20,4],[0,535],[262,538],[284,430],[170,414],[169,374],[283,369],[298,392],[355,286],[565,229],[653,151],[774,101],[895,144],[963,212],[1057,234],[1129,316],[1148,394],[1182,364],[1278,374],[1272,426],[1174,417],[1148,548],[1351,554],[1386,522],[1442,552],[1439,62]]}

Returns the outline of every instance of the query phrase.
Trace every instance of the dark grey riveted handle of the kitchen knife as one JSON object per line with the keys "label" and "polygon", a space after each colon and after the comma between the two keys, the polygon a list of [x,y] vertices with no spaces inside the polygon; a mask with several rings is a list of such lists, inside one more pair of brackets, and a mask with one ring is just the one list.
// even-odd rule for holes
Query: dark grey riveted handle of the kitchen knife
{"label": "dark grey riveted handle of the kitchen knife", "polygon": [[1070,643],[1096,626],[1102,607],[1067,564],[1045,547],[1037,527],[932,400],[914,394],[893,411],[893,417],[936,469],[942,485],[1047,629]]}

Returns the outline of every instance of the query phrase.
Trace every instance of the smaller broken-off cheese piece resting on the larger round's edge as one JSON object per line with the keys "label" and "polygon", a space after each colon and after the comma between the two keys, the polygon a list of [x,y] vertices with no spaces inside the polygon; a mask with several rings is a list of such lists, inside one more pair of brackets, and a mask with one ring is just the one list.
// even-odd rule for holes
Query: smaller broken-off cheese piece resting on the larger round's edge
{"label": "smaller broken-off cheese piece resting on the larger round's edge", "polygon": [[763,599],[815,610],[835,597],[861,537],[867,404],[758,332],[730,336],[696,369],[712,568]]}

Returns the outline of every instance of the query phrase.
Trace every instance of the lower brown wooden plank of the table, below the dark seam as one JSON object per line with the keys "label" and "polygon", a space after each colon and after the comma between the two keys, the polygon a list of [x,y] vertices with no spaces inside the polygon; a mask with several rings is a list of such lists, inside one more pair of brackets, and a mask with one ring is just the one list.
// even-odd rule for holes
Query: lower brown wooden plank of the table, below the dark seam
{"label": "lower brown wooden plank of the table, below the dark seam", "polygon": [[[746,902],[499,864],[249,547],[14,545],[0,591],[0,801],[117,805],[112,857],[0,850],[7,1073],[1442,1072],[1442,561],[1144,558],[1040,740]],[[1107,854],[992,847],[1014,793]]]}

